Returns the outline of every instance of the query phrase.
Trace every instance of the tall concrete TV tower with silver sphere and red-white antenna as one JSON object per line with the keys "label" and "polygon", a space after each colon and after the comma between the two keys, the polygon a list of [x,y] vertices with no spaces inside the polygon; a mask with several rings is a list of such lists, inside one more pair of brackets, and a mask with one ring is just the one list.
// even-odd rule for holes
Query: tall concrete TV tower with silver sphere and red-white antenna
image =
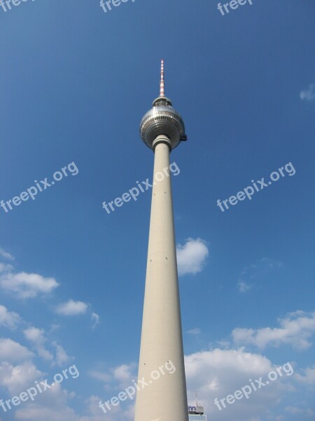
{"label": "tall concrete TV tower with silver sphere and red-white antenna", "polygon": [[[170,174],[161,181],[158,177],[186,134],[164,88],[162,60],[160,96],[140,124],[141,138],[154,152],[154,182],[138,373],[148,385],[137,392],[135,421],[188,421],[172,185]],[[165,375],[152,380],[151,373],[167,363],[176,368],[174,373],[164,369]]]}

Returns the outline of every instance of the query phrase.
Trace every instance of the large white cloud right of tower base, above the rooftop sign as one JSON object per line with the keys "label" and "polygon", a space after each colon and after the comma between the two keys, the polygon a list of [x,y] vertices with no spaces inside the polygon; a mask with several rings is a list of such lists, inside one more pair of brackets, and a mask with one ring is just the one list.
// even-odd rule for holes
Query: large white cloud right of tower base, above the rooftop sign
{"label": "large white cloud right of tower base, above the rooftop sign", "polygon": [[[253,421],[267,419],[269,408],[276,405],[280,398],[292,391],[288,386],[291,377],[283,375],[272,385],[266,385],[253,392],[250,399],[226,403],[221,410],[214,399],[223,399],[229,394],[248,385],[248,380],[265,380],[267,374],[275,369],[269,359],[260,354],[252,354],[240,349],[213,349],[196,352],[185,357],[188,405],[195,404],[195,392],[207,413],[209,420],[216,421]],[[260,418],[261,417],[261,418]]]}

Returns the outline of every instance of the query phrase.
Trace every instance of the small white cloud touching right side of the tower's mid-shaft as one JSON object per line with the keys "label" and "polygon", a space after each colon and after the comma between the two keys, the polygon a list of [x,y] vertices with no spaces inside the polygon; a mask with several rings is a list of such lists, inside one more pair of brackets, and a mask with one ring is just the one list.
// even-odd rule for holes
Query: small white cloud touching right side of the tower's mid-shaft
{"label": "small white cloud touching right side of the tower's mid-shaft", "polygon": [[202,271],[209,250],[204,240],[188,239],[183,246],[176,246],[176,254],[179,275],[197,274]]}

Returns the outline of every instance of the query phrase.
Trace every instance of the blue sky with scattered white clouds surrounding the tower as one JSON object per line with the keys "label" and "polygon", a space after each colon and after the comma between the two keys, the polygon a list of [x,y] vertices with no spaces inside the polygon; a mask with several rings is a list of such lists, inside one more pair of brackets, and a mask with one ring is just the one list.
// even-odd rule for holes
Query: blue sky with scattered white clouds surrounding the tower
{"label": "blue sky with scattered white clouds surrounding the tower", "polygon": [[[111,214],[102,202],[152,178],[139,123],[160,58],[188,134],[171,155],[188,400],[215,421],[315,419],[314,13],[313,0],[225,15],[212,0],[0,7],[0,200],[68,168],[0,208],[0,398],[80,372],[1,421],[132,420],[134,401],[107,415],[98,402],[137,375],[151,191]],[[287,362],[293,375],[214,405]]]}

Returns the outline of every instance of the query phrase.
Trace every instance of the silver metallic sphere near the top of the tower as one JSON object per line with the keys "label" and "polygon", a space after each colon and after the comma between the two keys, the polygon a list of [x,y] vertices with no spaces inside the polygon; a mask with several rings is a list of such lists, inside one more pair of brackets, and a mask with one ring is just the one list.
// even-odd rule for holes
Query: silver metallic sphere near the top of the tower
{"label": "silver metallic sphere near the top of the tower", "polygon": [[159,97],[143,117],[140,124],[140,136],[144,143],[154,149],[160,141],[158,136],[167,136],[169,147],[174,149],[181,140],[186,140],[185,126],[180,114],[172,107],[172,102]]}

